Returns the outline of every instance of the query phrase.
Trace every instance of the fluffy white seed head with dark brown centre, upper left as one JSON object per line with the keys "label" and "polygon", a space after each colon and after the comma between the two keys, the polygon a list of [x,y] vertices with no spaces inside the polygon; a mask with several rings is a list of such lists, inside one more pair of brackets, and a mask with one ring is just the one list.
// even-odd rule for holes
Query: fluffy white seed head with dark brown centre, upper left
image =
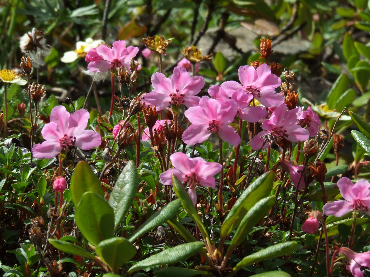
{"label": "fluffy white seed head with dark brown centre, upper left", "polygon": [[35,68],[45,65],[44,58],[50,54],[50,45],[46,44],[44,33],[36,28],[20,38],[19,48],[22,52],[28,52]]}

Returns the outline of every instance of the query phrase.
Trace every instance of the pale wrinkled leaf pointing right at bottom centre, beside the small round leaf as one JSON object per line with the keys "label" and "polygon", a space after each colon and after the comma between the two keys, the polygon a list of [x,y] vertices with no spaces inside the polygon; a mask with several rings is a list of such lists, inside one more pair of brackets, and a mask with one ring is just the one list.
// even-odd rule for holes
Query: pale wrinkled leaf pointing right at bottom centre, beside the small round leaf
{"label": "pale wrinkled leaf pointing right at bottom centre, beside the small round leaf", "polygon": [[203,242],[189,242],[177,245],[154,254],[145,260],[139,261],[130,267],[129,273],[145,269],[147,267],[177,263],[197,253],[204,246]]}

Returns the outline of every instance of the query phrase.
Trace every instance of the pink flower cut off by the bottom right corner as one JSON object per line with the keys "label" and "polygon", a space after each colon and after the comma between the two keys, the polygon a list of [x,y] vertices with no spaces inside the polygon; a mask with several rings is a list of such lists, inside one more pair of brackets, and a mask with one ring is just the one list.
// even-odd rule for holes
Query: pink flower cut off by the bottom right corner
{"label": "pink flower cut off by the bottom right corner", "polygon": [[340,247],[339,255],[345,255],[349,259],[347,270],[351,271],[353,277],[364,277],[361,267],[370,268],[370,251],[357,253],[347,247]]}

